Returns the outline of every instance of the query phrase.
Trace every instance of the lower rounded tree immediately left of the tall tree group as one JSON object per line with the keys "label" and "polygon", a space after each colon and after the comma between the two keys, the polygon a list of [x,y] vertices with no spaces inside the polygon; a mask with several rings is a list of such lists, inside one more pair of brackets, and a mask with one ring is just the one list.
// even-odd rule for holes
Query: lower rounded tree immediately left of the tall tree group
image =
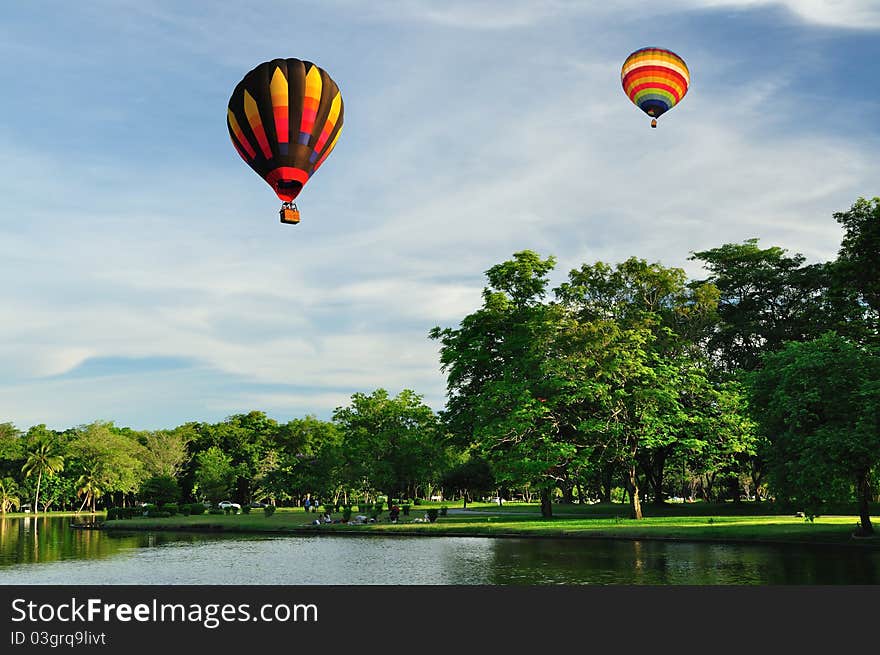
{"label": "lower rounded tree immediately left of the tall tree group", "polygon": [[385,389],[355,393],[337,407],[349,484],[383,492],[388,502],[437,474],[442,448],[437,417],[411,389],[390,397]]}

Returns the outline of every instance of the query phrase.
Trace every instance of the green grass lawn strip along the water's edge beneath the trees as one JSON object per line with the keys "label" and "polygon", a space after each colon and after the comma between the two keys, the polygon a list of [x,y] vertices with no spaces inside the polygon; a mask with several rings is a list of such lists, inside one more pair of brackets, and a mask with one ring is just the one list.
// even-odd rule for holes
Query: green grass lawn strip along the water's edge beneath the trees
{"label": "green grass lawn strip along the water's edge beneath the trees", "polygon": [[[438,504],[439,505],[439,504]],[[699,507],[695,507],[699,505]],[[287,533],[336,535],[415,535],[415,536],[481,536],[481,537],[563,537],[664,539],[682,541],[716,541],[728,543],[791,542],[813,544],[852,544],[880,548],[880,534],[871,539],[853,539],[857,517],[829,515],[813,522],[782,514],[751,514],[748,510],[734,513],[726,505],[693,503],[688,506],[669,505],[645,507],[645,518],[625,518],[625,505],[554,505],[554,518],[542,519],[534,504],[488,503],[449,504],[450,511],[436,523],[416,522],[429,505],[413,507],[410,516],[401,514],[398,523],[390,523],[384,512],[377,523],[352,525],[345,523],[313,525],[320,514],[306,514],[301,508],[279,508],[272,516],[261,510],[250,514],[174,516],[170,518],[136,518],[107,521],[107,529],[174,530],[237,533]],[[742,507],[746,507],[743,504]],[[758,507],[761,507],[760,505]],[[334,514],[334,519],[341,515]],[[875,522],[880,526],[880,518]]]}

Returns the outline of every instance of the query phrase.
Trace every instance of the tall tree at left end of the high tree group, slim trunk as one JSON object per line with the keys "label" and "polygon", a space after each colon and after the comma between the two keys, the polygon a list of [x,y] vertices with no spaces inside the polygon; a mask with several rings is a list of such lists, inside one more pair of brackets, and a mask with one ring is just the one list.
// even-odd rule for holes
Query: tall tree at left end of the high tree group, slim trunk
{"label": "tall tree at left end of the high tree group, slim trunk", "polygon": [[563,318],[544,303],[555,263],[531,250],[514,253],[486,271],[480,309],[457,328],[430,332],[447,375],[444,422],[460,445],[473,445],[490,463],[498,483],[537,487],[546,518],[551,491],[577,456],[571,425],[560,424],[550,408],[548,363]]}

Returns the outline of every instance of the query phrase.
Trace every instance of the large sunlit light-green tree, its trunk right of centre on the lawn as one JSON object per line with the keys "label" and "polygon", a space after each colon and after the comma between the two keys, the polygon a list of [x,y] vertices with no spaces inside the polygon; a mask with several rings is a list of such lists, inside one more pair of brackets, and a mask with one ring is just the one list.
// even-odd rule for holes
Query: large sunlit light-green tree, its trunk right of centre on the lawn
{"label": "large sunlit light-green tree, its trunk right of centre on the lawn", "polygon": [[662,502],[666,462],[692,445],[689,433],[712,400],[700,343],[715,324],[718,291],[688,285],[682,269],[631,257],[584,264],[555,293],[572,318],[559,375],[569,421],[588,435],[598,458],[592,470],[624,473],[631,516],[641,518],[639,468]]}

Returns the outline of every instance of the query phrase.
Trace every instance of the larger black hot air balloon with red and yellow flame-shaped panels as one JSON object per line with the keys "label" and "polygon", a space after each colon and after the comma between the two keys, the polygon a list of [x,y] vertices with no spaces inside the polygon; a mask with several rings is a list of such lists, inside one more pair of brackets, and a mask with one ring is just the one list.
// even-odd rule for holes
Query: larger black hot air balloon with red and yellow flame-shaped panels
{"label": "larger black hot air balloon with red and yellow flame-shaped panels", "polygon": [[339,87],[310,61],[265,61],[233,90],[232,145],[281,199],[282,223],[299,223],[293,201],[336,147],[342,115]]}

